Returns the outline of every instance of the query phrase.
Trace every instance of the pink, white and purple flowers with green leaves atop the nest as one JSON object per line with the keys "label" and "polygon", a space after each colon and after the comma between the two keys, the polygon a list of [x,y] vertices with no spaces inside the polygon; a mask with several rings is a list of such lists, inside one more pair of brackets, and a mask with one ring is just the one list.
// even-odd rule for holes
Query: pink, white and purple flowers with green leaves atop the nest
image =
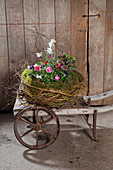
{"label": "pink, white and purple flowers with green leaves atop the nest", "polygon": [[56,58],[55,43],[56,41],[51,39],[45,56],[42,52],[36,53],[37,57],[40,58],[40,62],[28,66],[28,77],[34,77],[44,83],[51,83],[54,81],[65,82],[75,74],[75,57],[66,54]]}

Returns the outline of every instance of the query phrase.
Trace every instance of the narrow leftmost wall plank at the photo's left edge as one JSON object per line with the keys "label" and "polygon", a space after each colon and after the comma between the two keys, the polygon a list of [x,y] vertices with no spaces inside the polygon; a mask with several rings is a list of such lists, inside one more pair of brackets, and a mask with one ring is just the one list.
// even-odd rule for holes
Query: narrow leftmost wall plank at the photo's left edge
{"label": "narrow leftmost wall plank at the photo's left edge", "polygon": [[7,96],[4,92],[8,78],[8,51],[7,51],[7,32],[4,0],[0,1],[0,110],[7,104]]}

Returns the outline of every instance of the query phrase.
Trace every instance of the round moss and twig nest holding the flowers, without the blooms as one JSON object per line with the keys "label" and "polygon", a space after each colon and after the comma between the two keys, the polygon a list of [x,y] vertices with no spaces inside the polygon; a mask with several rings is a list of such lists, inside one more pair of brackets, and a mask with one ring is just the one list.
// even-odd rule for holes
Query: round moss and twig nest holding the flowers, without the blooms
{"label": "round moss and twig nest holding the flowers, without the blooms", "polygon": [[72,108],[84,104],[81,93],[85,87],[85,80],[79,72],[66,82],[52,82],[44,84],[38,79],[27,79],[22,73],[22,88],[19,96],[25,97],[27,103],[37,104],[49,108]]}

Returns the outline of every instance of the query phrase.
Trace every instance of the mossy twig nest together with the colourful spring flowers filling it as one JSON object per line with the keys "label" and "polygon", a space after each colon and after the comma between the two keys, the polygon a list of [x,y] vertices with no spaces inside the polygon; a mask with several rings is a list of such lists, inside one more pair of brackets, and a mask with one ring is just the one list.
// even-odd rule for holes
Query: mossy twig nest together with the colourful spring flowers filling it
{"label": "mossy twig nest together with the colourful spring flowers filling it", "polygon": [[[76,70],[76,59],[68,54],[56,56],[54,39],[45,54],[36,53],[38,61],[22,73],[24,95],[29,102],[49,107],[75,103],[84,87],[83,76]],[[70,104],[69,104],[70,105]]]}

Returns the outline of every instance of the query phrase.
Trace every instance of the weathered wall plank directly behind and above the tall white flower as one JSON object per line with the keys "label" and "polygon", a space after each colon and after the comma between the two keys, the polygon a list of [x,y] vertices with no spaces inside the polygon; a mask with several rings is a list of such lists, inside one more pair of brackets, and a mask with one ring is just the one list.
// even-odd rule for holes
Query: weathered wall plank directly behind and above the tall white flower
{"label": "weathered wall plank directly behind and above the tall white flower", "polygon": [[[55,39],[54,0],[39,0],[40,33]],[[40,49],[46,51],[50,40],[40,36]]]}

